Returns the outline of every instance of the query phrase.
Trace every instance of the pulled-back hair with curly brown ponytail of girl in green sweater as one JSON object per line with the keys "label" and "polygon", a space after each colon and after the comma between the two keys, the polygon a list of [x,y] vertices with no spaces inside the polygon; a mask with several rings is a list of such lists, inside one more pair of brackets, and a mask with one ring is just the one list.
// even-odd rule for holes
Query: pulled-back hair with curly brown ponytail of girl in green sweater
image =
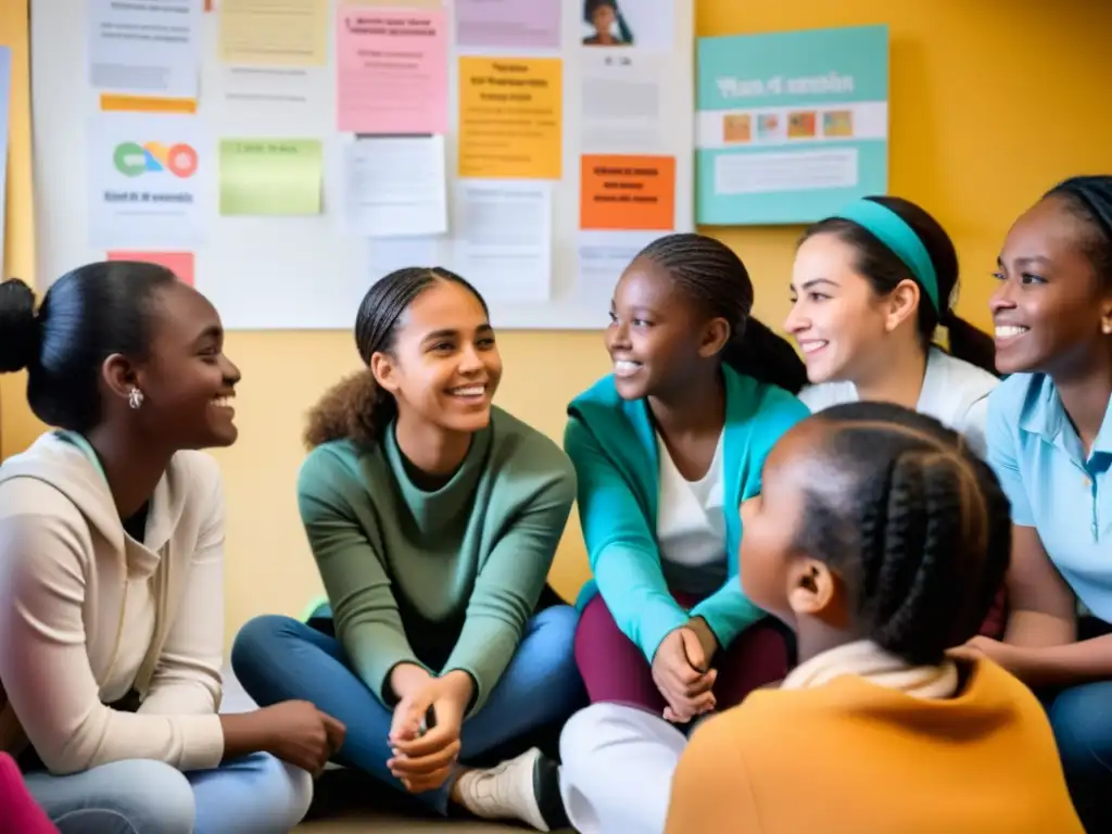
{"label": "pulled-back hair with curly brown ponytail of girl in green sweater", "polygon": [[[359,358],[369,366],[375,354],[389,353],[397,340],[403,314],[421,292],[439,281],[453,281],[469,290],[489,314],[479,291],[444,267],[406,267],[371,285],[355,319],[355,344]],[[309,411],[305,444],[308,448],[332,440],[350,439],[374,446],[397,414],[394,397],[384,390],[367,367],[332,386]]]}

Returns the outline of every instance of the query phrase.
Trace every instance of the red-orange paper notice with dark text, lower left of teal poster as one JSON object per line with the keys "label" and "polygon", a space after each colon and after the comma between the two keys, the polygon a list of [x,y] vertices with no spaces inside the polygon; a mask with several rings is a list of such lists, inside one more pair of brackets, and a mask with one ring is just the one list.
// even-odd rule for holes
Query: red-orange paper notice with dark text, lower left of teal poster
{"label": "red-orange paper notice with dark text, lower left of teal poster", "polygon": [[675,157],[590,155],[580,165],[579,228],[675,228]]}

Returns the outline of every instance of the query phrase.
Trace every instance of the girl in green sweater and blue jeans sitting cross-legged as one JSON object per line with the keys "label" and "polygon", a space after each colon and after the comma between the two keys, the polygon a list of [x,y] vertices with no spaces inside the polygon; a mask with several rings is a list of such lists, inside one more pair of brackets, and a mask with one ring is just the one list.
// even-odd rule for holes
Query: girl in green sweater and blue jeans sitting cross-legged
{"label": "girl in green sweater and blue jeans sitting cross-legged", "polygon": [[337,761],[435,812],[560,827],[556,764],[527,739],[583,703],[576,612],[539,609],[572,464],[492,405],[495,332],[459,276],[391,272],[355,337],[366,369],[310,415],[297,487],[330,607],[247,623],[232,666],[260,704],[342,716]]}

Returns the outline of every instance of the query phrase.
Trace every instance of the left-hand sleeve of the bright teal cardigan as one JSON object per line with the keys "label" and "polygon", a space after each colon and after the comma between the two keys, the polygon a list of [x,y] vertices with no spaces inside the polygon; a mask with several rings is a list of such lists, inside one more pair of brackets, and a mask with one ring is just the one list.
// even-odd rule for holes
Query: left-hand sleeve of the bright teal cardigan
{"label": "left-hand sleeve of the bright teal cardigan", "polygon": [[661,641],[688,615],[668,592],[651,522],[622,473],[575,416],[564,431],[564,450],[579,483],[579,523],[598,593],[622,633],[652,663]]}

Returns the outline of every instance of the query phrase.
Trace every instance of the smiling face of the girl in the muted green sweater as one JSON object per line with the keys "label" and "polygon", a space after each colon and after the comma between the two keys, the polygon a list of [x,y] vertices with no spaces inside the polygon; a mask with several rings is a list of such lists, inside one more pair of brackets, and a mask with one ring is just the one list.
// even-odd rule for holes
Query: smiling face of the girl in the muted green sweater
{"label": "smiling face of the girl in the muted green sweater", "polygon": [[494,329],[463,285],[437,280],[414,299],[389,353],[371,357],[379,385],[394,395],[399,420],[475,433],[490,421],[502,379]]}

